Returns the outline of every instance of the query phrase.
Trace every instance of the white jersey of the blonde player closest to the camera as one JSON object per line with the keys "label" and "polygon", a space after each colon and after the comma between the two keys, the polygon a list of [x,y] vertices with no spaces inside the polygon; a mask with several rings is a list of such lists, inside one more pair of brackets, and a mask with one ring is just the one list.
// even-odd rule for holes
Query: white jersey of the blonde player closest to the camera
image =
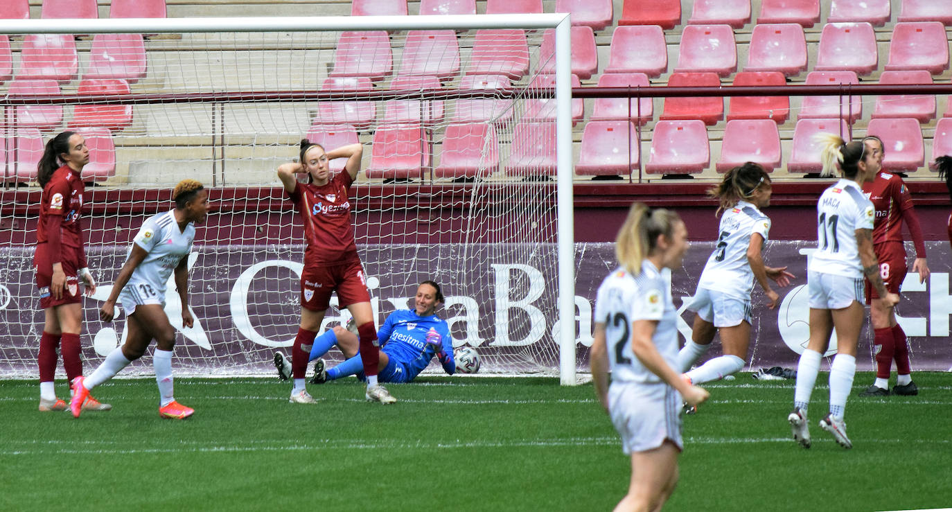
{"label": "white jersey of the blonde player closest to the camera", "polygon": [[618,268],[605,277],[595,299],[595,322],[605,324],[605,342],[612,382],[660,383],[631,349],[631,325],[639,320],[658,321],[652,343],[671,367],[678,360],[677,309],[664,274],[645,260],[634,277]]}

